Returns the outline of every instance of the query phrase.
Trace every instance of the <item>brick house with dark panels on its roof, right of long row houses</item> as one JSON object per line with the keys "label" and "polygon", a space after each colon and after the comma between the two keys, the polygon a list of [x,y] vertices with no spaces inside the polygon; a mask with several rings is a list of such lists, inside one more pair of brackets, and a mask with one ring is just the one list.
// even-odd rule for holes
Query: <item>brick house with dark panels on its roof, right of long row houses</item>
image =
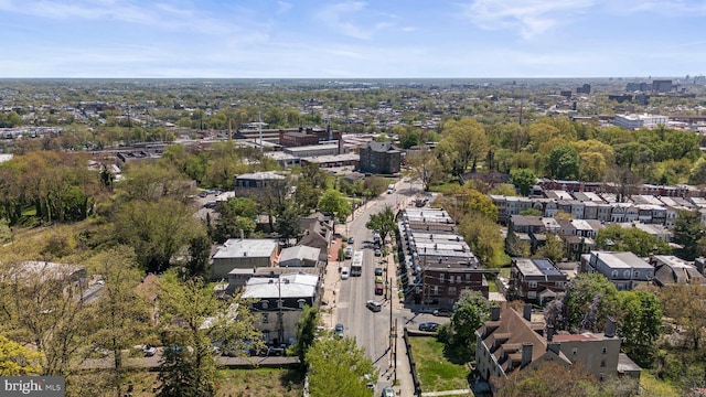
{"label": "brick house with dark panels on its roof, right of long row houses", "polygon": [[550,259],[512,258],[510,280],[525,302],[543,305],[566,290],[568,276]]}

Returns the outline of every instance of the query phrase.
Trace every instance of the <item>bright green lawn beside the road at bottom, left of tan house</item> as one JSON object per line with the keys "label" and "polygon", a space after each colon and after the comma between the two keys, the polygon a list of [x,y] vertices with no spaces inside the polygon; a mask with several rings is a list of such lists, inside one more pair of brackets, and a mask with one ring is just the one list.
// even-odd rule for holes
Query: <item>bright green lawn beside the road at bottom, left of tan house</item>
{"label": "bright green lawn beside the road at bottom, left of tan house", "polygon": [[410,337],[409,343],[417,362],[421,391],[458,390],[469,387],[470,369],[463,364],[451,363],[443,355],[443,343],[428,336]]}

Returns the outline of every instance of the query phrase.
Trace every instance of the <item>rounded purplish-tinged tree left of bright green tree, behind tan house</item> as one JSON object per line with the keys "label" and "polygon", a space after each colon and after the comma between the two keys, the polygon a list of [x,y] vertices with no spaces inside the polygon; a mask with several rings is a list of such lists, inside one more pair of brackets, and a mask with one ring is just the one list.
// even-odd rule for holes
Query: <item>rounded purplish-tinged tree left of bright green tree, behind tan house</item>
{"label": "rounded purplish-tinged tree left of bright green tree, behind tan house", "polygon": [[603,275],[579,273],[566,287],[564,311],[569,331],[600,331],[618,313],[618,291]]}

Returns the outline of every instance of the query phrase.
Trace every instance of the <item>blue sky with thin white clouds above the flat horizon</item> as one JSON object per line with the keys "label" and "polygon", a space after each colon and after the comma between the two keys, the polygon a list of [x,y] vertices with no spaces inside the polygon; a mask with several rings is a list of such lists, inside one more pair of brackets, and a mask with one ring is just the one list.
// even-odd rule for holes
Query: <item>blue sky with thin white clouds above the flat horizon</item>
{"label": "blue sky with thin white clouds above the flat horizon", "polygon": [[706,73],[704,0],[0,0],[0,77]]}

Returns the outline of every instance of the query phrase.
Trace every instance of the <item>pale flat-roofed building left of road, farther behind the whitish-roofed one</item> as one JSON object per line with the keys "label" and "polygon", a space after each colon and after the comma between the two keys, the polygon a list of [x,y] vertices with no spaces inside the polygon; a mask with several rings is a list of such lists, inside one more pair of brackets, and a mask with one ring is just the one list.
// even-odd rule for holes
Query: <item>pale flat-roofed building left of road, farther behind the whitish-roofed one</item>
{"label": "pale flat-roofed building left of road, farther behind the whitish-roofed one", "polygon": [[233,269],[272,267],[279,254],[275,239],[229,238],[212,257],[211,279],[227,278]]}

